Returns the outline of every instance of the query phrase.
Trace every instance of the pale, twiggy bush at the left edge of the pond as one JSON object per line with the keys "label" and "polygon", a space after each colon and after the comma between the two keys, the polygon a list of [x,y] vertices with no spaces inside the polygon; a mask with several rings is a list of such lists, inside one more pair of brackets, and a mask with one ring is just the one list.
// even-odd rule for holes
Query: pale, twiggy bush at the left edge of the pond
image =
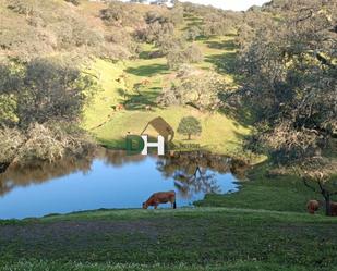
{"label": "pale, twiggy bush at the left edge of the pond", "polygon": [[32,123],[27,130],[0,128],[0,164],[53,162],[64,156],[82,155],[94,146],[71,123]]}

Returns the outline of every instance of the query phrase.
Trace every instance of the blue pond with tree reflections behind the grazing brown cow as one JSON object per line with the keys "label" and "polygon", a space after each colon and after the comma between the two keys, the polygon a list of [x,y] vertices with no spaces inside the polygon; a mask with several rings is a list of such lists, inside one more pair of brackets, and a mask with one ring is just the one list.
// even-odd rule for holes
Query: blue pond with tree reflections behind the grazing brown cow
{"label": "blue pond with tree reflections behind the grazing brown cow", "polygon": [[193,152],[158,158],[99,149],[81,159],[8,168],[0,174],[0,219],[141,208],[153,193],[165,190],[176,190],[179,208],[207,193],[236,192],[238,178],[238,167],[225,157]]}

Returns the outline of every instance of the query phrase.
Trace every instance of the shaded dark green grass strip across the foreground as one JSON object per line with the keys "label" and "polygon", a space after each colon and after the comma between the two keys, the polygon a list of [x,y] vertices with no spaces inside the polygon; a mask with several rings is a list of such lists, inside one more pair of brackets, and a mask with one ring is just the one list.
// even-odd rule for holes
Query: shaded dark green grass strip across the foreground
{"label": "shaded dark green grass strip across the foreground", "polygon": [[99,210],[0,225],[0,270],[336,270],[337,264],[336,219],[306,213]]}

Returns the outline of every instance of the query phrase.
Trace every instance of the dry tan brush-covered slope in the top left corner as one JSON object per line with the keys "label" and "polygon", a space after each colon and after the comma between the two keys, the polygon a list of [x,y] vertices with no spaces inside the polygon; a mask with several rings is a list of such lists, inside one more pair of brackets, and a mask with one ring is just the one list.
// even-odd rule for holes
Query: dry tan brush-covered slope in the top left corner
{"label": "dry tan brush-covered slope in the top left corner", "polygon": [[[80,1],[71,1],[74,4]],[[116,30],[110,27],[101,29],[95,27],[92,20],[83,16],[62,4],[60,1],[36,1],[36,0],[8,0],[8,10],[3,11],[3,20],[0,26],[0,48],[5,51],[5,57],[20,63],[26,63],[40,56],[57,54],[60,51],[72,54],[95,56],[103,58],[124,59],[136,49],[134,42],[124,44],[117,40],[112,48],[105,36],[123,33],[131,40],[128,30]],[[132,5],[125,8],[124,3],[111,3],[109,7],[120,5],[123,10],[122,23],[130,25],[142,25],[144,19]],[[105,22],[109,23],[109,14],[113,16],[113,10],[107,9]],[[1,13],[1,14],[2,14]],[[13,14],[16,13],[16,14]],[[119,13],[118,13],[119,14]],[[125,17],[124,17],[125,16]],[[112,19],[111,19],[112,20]],[[113,21],[113,20],[112,20]],[[112,23],[116,23],[113,21]],[[120,27],[120,24],[117,22]],[[121,36],[121,35],[120,35]]]}

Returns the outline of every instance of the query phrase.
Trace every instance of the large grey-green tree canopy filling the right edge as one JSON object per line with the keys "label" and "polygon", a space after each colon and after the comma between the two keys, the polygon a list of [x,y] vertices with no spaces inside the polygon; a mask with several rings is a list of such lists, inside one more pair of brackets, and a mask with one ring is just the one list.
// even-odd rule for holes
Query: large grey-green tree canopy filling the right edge
{"label": "large grey-green tree canopy filling the right edge", "polygon": [[250,109],[256,128],[249,146],[315,181],[329,213],[333,183],[326,181],[336,174],[330,170],[337,137],[336,4],[273,1],[263,10],[279,20],[239,36],[241,106]]}

